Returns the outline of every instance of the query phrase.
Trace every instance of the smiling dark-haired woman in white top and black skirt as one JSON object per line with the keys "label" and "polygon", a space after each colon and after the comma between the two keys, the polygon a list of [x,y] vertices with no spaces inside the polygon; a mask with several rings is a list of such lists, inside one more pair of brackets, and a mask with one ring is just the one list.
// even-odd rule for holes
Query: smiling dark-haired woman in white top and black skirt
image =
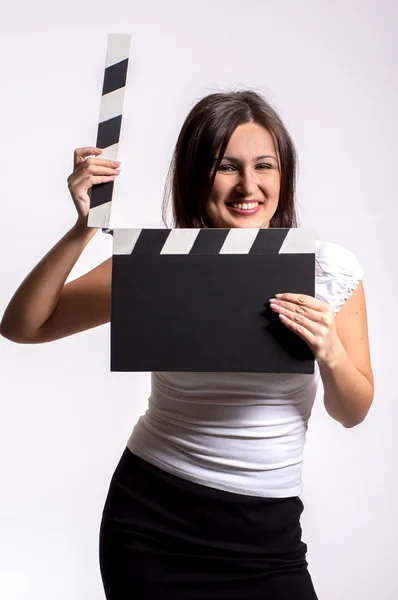
{"label": "smiling dark-haired woman in white top and black skirt", "polygon": [[[89,190],[119,163],[75,151],[76,224],[12,298],[1,333],[49,342],[109,321],[111,259],[65,285],[95,235]],[[92,158],[88,158],[93,156]],[[171,168],[175,227],[296,227],[296,156],[272,107],[251,91],[212,94],[189,113]],[[373,401],[362,269],[317,242],[316,297],[281,290],[271,307],[314,353],[314,375],[153,373],[113,475],[100,533],[110,600],[317,598],[301,540],[302,453],[317,384],[344,427]],[[264,301],[268,299],[265,298]]]}

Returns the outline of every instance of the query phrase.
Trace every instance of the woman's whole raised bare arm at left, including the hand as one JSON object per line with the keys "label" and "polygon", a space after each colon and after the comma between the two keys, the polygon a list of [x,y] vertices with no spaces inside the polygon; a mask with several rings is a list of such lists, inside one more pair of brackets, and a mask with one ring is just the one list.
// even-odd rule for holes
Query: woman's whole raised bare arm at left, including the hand
{"label": "woman's whole raised bare arm at left, including the hand", "polygon": [[22,344],[49,342],[110,320],[111,258],[65,285],[97,232],[87,227],[89,190],[93,184],[113,181],[120,172],[118,163],[86,159],[100,153],[97,148],[75,150],[75,168],[68,184],[78,219],[24,279],[9,302],[0,324],[0,333],[9,340]]}

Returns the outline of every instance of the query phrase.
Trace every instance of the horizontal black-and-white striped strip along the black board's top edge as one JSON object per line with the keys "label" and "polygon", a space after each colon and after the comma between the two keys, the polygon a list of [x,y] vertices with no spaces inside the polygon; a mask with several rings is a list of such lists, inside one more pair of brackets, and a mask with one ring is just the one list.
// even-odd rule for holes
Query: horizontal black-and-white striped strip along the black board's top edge
{"label": "horizontal black-and-white striped strip along the black board's top edge", "polygon": [[313,254],[315,229],[115,229],[113,254]]}

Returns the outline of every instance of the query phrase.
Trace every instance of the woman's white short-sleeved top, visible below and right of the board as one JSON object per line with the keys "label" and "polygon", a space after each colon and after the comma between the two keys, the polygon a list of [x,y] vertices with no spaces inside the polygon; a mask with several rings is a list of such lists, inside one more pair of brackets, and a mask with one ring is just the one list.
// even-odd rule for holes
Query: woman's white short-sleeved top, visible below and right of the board
{"label": "woman's white short-sleeved top, visible below and right of the board", "polygon": [[[363,277],[355,255],[317,241],[315,295],[337,313]],[[280,373],[152,373],[134,454],[183,479],[250,496],[302,493],[308,421],[319,382]]]}

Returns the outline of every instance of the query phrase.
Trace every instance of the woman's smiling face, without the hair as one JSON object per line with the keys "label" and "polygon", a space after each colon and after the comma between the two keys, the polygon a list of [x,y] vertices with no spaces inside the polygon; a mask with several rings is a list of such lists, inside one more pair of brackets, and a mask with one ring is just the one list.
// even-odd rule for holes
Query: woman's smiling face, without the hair
{"label": "woman's smiling face, without the hair", "polygon": [[229,140],[206,211],[213,227],[269,227],[279,189],[280,172],[271,134],[257,123],[244,123]]}

